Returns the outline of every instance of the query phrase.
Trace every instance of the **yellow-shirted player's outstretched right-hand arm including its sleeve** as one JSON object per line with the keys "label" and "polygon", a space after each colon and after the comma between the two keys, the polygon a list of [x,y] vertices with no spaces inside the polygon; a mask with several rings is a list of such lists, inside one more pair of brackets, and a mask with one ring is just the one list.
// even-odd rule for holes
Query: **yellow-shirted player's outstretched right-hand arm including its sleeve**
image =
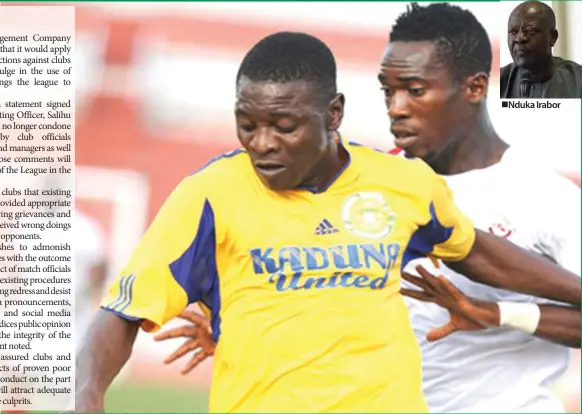
{"label": "yellow-shirted player's outstretched right-hand arm including its sleeve", "polygon": [[429,219],[413,236],[405,259],[432,254],[473,281],[580,307],[578,276],[505,239],[476,230],[454,205],[444,180],[430,175]]}

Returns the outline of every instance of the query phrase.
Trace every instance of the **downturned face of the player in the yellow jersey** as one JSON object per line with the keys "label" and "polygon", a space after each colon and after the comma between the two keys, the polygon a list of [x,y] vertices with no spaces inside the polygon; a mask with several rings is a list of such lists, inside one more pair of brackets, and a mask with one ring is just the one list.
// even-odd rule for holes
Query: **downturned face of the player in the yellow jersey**
{"label": "downturned face of the player in the yellow jersey", "polygon": [[330,131],[343,115],[343,101],[336,98],[322,103],[309,82],[239,81],[238,139],[269,188],[290,190],[309,181],[335,145]]}

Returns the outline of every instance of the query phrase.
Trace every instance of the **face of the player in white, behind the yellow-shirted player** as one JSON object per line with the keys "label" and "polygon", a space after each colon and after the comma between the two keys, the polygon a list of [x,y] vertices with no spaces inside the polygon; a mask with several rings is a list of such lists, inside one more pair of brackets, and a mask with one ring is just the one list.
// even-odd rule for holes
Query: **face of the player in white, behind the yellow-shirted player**
{"label": "face of the player in white, behind the yellow-shirted player", "polygon": [[407,156],[430,163],[459,137],[469,104],[432,42],[390,43],[378,79],[394,144]]}

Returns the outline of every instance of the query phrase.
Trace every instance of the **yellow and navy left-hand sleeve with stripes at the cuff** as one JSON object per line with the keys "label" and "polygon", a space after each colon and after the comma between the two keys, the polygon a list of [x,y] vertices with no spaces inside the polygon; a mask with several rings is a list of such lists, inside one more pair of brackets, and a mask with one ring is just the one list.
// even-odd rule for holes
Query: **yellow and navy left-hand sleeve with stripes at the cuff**
{"label": "yellow and navy left-hand sleeve with stripes at the cuff", "polygon": [[101,306],[156,331],[190,303],[211,307],[216,290],[214,212],[197,177],[166,200]]}

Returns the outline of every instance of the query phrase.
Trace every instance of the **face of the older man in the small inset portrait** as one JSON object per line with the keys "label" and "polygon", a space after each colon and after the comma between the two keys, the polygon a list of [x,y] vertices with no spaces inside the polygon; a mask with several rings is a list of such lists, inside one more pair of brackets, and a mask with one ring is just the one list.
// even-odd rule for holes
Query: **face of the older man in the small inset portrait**
{"label": "face of the older man in the small inset portrait", "polygon": [[536,5],[519,7],[507,22],[507,46],[515,64],[535,68],[545,63],[558,39],[558,32],[547,25]]}

